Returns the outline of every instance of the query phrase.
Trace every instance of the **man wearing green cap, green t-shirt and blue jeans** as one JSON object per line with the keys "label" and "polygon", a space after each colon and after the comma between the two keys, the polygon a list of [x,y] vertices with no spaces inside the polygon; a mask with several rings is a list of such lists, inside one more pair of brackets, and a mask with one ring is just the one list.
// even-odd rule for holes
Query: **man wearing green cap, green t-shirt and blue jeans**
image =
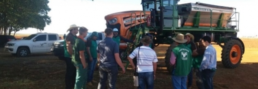
{"label": "man wearing green cap, green t-shirt and blue jeans", "polygon": [[87,53],[88,53],[88,78],[87,84],[92,86],[92,83],[98,83],[93,80],[93,73],[97,64],[97,38],[99,37],[97,32],[93,32],[87,39]]}

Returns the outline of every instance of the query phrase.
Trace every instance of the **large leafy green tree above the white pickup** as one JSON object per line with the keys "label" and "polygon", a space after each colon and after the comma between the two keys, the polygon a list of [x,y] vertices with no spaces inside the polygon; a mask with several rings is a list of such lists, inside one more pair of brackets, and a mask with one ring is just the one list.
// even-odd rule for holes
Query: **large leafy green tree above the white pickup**
{"label": "large leafy green tree above the white pickup", "polygon": [[44,30],[51,23],[48,0],[1,0],[0,33],[10,35],[12,31],[29,27]]}

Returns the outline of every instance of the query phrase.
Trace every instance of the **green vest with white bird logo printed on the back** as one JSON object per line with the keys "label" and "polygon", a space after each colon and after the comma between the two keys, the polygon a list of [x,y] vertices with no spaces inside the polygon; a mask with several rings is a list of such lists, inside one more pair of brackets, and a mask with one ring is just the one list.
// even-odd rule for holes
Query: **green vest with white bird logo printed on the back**
{"label": "green vest with white bird logo printed on the back", "polygon": [[192,66],[192,51],[183,44],[178,45],[172,49],[176,56],[176,69],[174,69],[176,76],[187,76],[190,73]]}

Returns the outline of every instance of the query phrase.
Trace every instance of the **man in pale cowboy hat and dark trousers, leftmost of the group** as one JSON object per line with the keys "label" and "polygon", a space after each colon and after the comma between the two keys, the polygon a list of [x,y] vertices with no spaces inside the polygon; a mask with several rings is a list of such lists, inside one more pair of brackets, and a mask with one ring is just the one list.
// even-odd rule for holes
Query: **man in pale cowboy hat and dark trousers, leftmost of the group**
{"label": "man in pale cowboy hat and dark trousers, leftmost of the group", "polygon": [[72,64],[72,53],[73,53],[73,43],[77,38],[78,26],[75,24],[71,25],[67,30],[67,36],[64,36],[64,57],[66,62],[66,74],[65,74],[65,85],[66,89],[72,89],[75,85],[76,78],[76,67]]}

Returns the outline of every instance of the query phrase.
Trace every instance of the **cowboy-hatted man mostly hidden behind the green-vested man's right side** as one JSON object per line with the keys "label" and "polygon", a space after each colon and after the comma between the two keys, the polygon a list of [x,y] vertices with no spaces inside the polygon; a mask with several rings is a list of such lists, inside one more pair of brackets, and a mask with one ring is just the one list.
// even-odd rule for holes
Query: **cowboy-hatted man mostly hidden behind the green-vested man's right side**
{"label": "cowboy-hatted man mostly hidden behind the green-vested man's right side", "polygon": [[[194,35],[190,34],[190,33],[186,33],[185,34],[185,39],[187,40],[186,43],[184,43],[184,45],[186,47],[188,47],[189,49],[191,49],[191,51],[196,51],[197,47],[194,43]],[[187,88],[191,89],[192,83],[193,83],[193,68],[191,68],[191,72],[188,75],[188,83],[187,83]]]}

